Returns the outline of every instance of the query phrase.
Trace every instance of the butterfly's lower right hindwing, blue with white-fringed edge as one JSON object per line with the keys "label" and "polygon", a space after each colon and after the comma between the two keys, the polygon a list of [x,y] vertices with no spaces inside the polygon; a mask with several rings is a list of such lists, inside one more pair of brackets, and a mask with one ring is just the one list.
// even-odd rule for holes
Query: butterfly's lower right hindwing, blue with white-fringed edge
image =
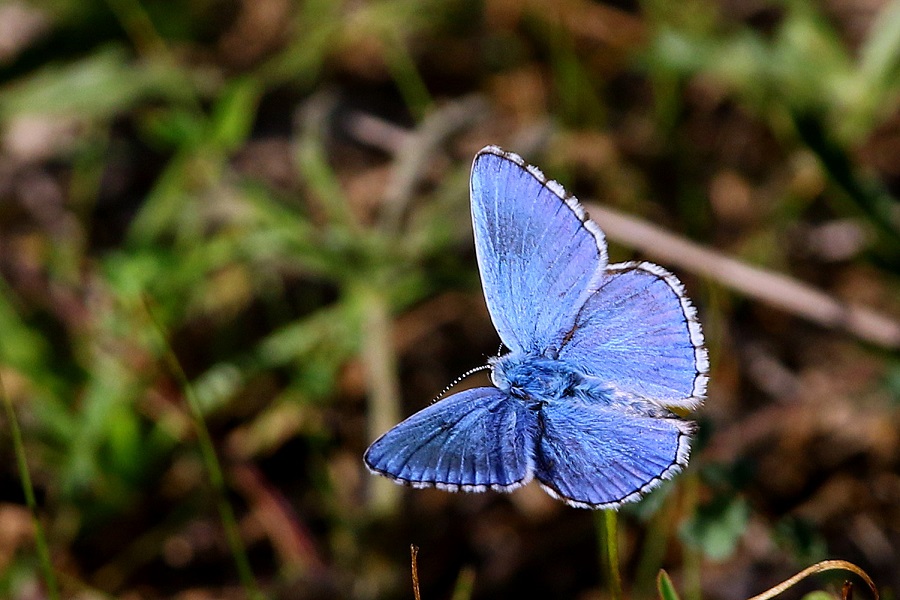
{"label": "butterfly's lower right hindwing, blue with white-fringed edge", "polygon": [[692,425],[598,404],[555,402],[542,410],[535,477],[580,508],[617,508],[687,465]]}

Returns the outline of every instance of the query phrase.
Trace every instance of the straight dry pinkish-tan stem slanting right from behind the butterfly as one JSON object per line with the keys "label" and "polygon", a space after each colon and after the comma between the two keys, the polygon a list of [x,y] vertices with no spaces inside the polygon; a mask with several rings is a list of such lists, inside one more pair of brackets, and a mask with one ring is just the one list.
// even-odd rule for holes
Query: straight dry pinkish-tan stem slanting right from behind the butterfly
{"label": "straight dry pinkish-tan stem slanting right from behind the butterfly", "polygon": [[633,216],[585,203],[610,240],[713,279],[748,297],[844,331],[885,348],[900,348],[900,322],[874,310],[841,302],[796,279],[704,248]]}

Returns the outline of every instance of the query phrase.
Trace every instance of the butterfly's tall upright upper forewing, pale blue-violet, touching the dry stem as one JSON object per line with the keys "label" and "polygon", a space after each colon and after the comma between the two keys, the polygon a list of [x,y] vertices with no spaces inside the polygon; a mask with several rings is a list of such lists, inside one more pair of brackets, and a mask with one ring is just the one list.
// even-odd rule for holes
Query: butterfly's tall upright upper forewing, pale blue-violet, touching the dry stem
{"label": "butterfly's tall upright upper forewing, pale blue-violet, touching the dry stem", "polygon": [[494,146],[475,157],[471,196],[478,268],[500,339],[552,356],[603,275],[603,233],[562,186]]}

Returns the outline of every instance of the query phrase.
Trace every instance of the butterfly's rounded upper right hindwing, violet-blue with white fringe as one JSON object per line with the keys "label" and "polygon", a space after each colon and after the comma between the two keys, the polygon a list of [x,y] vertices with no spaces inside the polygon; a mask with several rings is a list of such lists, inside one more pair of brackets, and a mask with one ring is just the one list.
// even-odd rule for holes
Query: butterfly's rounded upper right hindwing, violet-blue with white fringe
{"label": "butterfly's rounded upper right hindwing, violet-blue with white fringe", "polygon": [[650,263],[607,268],[559,359],[667,406],[694,408],[706,394],[709,360],[696,311],[675,276]]}

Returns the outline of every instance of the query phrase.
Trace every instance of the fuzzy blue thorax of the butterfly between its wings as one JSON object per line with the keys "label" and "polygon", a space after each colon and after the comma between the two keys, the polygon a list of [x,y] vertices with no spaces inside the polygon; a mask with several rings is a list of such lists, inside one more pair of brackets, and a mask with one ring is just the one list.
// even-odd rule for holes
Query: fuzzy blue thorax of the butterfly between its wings
{"label": "fuzzy blue thorax of the butterfly between its wings", "polygon": [[575,396],[585,383],[567,363],[524,352],[510,352],[491,360],[491,380],[504,392],[534,404],[534,408]]}

